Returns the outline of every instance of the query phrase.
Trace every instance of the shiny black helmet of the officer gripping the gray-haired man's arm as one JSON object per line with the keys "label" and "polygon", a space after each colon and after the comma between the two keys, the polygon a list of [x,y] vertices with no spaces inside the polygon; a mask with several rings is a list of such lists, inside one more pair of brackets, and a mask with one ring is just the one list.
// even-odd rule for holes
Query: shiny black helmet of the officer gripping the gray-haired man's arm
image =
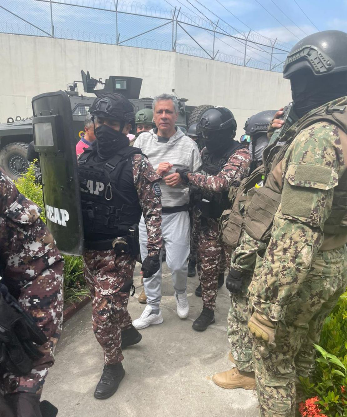
{"label": "shiny black helmet of the officer gripping the gray-haired man's arm", "polygon": [[224,106],[215,106],[206,110],[198,121],[198,130],[206,136],[208,131],[236,132],[236,120],[233,113]]}

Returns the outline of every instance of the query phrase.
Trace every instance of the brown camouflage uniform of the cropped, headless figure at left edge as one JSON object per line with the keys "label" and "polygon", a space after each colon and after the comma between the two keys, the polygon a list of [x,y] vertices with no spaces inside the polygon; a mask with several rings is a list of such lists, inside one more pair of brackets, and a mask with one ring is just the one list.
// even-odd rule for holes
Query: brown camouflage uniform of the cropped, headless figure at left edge
{"label": "brown camouflage uniform of the cropped, headless figure at left edge", "polygon": [[39,218],[40,209],[20,194],[0,170],[0,262],[3,282],[34,317],[48,341],[44,356],[22,377],[2,375],[0,388],[9,394],[41,394],[63,320],[63,259],[53,236]]}

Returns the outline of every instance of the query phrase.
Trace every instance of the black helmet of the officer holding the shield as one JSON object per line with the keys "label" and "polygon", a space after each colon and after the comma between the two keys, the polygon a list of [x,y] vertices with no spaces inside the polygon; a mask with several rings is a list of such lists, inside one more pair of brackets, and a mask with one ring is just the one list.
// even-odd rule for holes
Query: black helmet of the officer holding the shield
{"label": "black helmet of the officer holding the shield", "polygon": [[135,112],[132,103],[122,94],[105,93],[94,100],[89,113],[100,118],[131,123],[135,126]]}

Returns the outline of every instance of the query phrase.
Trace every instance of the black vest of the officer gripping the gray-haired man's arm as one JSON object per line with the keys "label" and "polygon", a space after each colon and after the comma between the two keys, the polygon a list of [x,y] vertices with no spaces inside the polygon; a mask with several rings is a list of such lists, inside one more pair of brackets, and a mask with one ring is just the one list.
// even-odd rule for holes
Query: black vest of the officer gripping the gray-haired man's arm
{"label": "black vest of the officer gripping the gray-haired man's arm", "polygon": [[[232,156],[238,149],[245,148],[243,143],[232,141],[229,148],[225,151],[217,161],[215,155],[208,152],[205,148],[202,153],[202,165],[200,173],[203,175],[217,175],[222,171],[225,164],[228,162],[230,156]],[[204,217],[218,219],[226,208],[230,207],[228,198],[229,191],[223,191],[221,193],[213,193],[206,190],[201,190],[199,195],[199,201],[197,203],[198,208]]]}

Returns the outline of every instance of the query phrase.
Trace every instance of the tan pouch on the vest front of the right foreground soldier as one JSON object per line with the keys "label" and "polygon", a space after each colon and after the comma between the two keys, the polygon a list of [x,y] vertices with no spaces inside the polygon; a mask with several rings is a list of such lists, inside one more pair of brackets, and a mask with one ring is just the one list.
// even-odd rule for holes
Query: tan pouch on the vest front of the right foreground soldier
{"label": "tan pouch on the vest front of the right foreground soldier", "polygon": [[266,186],[254,189],[254,196],[245,216],[245,230],[251,238],[265,241],[270,237],[272,223],[280,202],[280,193]]}

